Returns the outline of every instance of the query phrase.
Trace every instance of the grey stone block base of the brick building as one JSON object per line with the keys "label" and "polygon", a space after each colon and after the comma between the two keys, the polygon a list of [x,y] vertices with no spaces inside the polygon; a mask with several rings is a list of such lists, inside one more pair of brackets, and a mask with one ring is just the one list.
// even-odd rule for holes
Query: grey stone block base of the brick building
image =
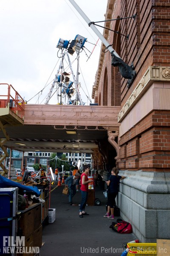
{"label": "grey stone block base of the brick building", "polygon": [[133,226],[140,242],[170,239],[170,173],[120,171],[121,217]]}

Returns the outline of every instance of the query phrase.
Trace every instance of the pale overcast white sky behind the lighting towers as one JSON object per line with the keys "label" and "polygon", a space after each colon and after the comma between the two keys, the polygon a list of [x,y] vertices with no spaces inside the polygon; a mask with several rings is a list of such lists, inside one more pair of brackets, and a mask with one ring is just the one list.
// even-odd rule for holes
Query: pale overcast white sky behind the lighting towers
{"label": "pale overcast white sky behind the lighting towers", "polygon": [[[105,20],[108,0],[75,2],[91,21]],[[98,29],[102,33],[102,29]],[[61,60],[58,58],[61,50],[56,48],[59,38],[71,41],[77,34],[88,41],[79,57],[80,95],[87,105],[98,68],[101,41],[74,6],[69,0],[1,0],[0,83],[11,84],[29,104],[45,104]],[[76,55],[69,57],[74,61],[72,68],[76,75]],[[4,86],[0,88],[2,93]],[[57,104],[56,97],[54,94],[49,104]]]}

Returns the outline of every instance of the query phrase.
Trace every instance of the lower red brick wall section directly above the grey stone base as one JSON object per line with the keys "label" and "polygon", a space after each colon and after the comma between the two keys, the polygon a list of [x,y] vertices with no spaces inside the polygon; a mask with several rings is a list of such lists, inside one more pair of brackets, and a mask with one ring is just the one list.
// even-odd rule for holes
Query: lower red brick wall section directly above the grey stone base
{"label": "lower red brick wall section directly above the grey stone base", "polygon": [[120,168],[169,172],[170,111],[150,113],[120,138],[119,146]]}

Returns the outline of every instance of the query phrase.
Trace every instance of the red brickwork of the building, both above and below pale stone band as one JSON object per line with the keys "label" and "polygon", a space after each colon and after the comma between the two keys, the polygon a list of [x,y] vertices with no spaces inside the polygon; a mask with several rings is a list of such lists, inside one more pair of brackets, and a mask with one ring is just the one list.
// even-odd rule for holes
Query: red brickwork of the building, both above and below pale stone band
{"label": "red brickwork of the building, both above and below pale stone band", "polygon": [[[111,54],[105,54],[98,95],[105,99],[103,90],[105,70],[108,78],[108,106],[123,107],[141,81],[149,66],[170,65],[170,0],[117,0],[114,18],[131,17],[136,19],[114,20],[109,32],[109,43],[125,63],[132,62],[136,71],[130,88],[127,79],[119,69],[111,66]],[[99,99],[99,97],[98,97]],[[101,100],[102,101],[102,100]],[[104,102],[104,104],[106,101]],[[101,102],[103,104],[103,102]],[[153,111],[124,134],[119,140],[119,167],[128,170],[170,170],[170,111]],[[155,132],[159,130],[159,132]]]}

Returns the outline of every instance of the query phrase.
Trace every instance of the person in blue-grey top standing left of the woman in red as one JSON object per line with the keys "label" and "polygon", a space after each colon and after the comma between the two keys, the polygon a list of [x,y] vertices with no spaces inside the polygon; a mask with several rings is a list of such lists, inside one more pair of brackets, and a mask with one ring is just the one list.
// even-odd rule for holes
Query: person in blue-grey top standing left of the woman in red
{"label": "person in blue-grey top standing left of the woman in red", "polygon": [[75,173],[75,175],[71,175],[65,180],[65,187],[68,187],[68,201],[70,205],[73,204],[72,198],[76,194],[79,177],[80,174]]}

